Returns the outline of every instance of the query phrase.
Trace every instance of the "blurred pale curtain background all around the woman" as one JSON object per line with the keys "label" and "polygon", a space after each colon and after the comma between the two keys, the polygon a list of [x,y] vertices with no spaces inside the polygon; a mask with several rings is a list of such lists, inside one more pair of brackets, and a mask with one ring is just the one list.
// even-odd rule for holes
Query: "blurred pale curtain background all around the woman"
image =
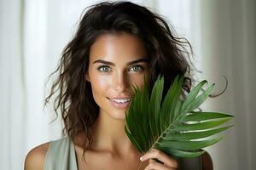
{"label": "blurred pale curtain background all around the woman", "polygon": [[[0,169],[22,169],[29,150],[61,138],[45,95],[61,51],[92,0],[0,0]],[[216,170],[256,167],[256,1],[134,0],[166,17],[195,51],[198,80],[215,82],[206,111],[236,116],[235,127],[208,147]],[[254,168],[253,168],[254,167]]]}

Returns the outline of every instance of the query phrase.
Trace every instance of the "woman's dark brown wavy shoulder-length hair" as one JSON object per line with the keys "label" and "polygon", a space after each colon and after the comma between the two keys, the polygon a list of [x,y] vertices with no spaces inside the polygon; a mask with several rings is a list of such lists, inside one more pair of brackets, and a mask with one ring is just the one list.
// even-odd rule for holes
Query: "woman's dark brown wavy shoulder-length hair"
{"label": "woman's dark brown wavy shoulder-length hair", "polygon": [[[73,39],[61,54],[54,73],[58,74],[45,105],[54,99],[54,109],[64,122],[63,134],[74,139],[83,133],[84,151],[90,149],[90,127],[96,121],[99,107],[93,99],[90,82],[85,80],[90,46],[102,34],[125,32],[138,37],[148,52],[152,88],[158,75],[165,77],[164,94],[177,75],[184,76],[183,94],[191,88],[189,56],[191,45],[183,37],[175,36],[171,25],[148,8],[130,2],[97,3],[87,9]],[[149,88],[150,89],[150,88]],[[54,95],[55,94],[55,95]]]}

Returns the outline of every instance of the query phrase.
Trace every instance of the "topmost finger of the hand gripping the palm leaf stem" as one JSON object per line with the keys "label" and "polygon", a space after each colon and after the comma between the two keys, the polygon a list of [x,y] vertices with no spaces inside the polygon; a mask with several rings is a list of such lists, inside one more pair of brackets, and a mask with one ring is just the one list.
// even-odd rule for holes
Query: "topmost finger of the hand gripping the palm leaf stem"
{"label": "topmost finger of the hand gripping the palm leaf stem", "polygon": [[148,159],[158,159],[162,161],[168,167],[175,167],[177,168],[177,161],[173,159],[171,156],[166,155],[161,150],[151,150],[150,152],[146,153],[144,156],[141,157],[141,161],[145,161]]}

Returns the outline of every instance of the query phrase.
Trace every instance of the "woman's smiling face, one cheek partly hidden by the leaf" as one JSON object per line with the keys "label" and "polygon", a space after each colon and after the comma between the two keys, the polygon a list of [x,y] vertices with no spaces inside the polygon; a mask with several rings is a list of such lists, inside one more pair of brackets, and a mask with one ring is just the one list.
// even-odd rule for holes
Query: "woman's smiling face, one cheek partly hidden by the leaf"
{"label": "woman's smiling face, one cheek partly hidden by the leaf", "polygon": [[86,80],[91,84],[100,114],[125,120],[125,111],[134,94],[133,85],[142,88],[147,73],[146,49],[135,36],[104,34],[90,47]]}

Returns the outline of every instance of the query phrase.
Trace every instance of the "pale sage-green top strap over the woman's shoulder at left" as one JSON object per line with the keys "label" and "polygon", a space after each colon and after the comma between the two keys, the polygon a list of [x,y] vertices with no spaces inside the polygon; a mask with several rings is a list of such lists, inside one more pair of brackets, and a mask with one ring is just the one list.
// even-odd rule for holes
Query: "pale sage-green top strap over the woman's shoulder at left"
{"label": "pale sage-green top strap over the woman's shoulder at left", "polygon": [[51,141],[47,150],[44,170],[78,170],[72,139],[69,137]]}

